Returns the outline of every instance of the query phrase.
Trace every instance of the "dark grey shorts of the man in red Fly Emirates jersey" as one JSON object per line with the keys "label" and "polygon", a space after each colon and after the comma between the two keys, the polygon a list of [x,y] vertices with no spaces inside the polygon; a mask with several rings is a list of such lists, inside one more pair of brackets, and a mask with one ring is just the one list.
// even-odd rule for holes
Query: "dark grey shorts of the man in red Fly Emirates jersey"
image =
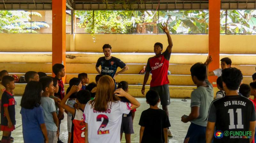
{"label": "dark grey shorts of the man in red Fly Emirates jersey", "polygon": [[158,92],[161,105],[164,105],[164,106],[170,105],[171,101],[170,101],[170,92],[169,92],[168,84],[150,87],[149,90],[155,90],[156,92]]}

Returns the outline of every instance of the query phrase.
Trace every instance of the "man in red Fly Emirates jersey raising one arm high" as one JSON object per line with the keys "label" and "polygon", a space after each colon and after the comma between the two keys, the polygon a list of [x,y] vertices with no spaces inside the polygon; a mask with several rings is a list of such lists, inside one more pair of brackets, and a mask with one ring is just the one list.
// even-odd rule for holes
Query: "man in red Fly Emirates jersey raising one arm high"
{"label": "man in red Fly Emirates jersey raising one arm high", "polygon": [[[148,59],[148,63],[146,66],[146,74],[144,76],[144,82],[141,89],[143,95],[145,95],[145,85],[148,81],[149,73],[152,73],[152,80],[150,82],[150,90],[155,90],[158,92],[161,105],[164,111],[166,111],[169,117],[169,111],[167,106],[170,105],[170,93],[169,93],[169,80],[167,76],[168,68],[169,68],[169,60],[172,53],[172,38],[169,34],[169,30],[167,25],[163,25],[163,31],[167,35],[168,39],[168,46],[164,53],[163,51],[163,44],[162,43],[155,43],[154,45],[154,53],[156,54],[154,57],[150,57]],[[172,136],[170,130],[168,130],[168,136]]]}

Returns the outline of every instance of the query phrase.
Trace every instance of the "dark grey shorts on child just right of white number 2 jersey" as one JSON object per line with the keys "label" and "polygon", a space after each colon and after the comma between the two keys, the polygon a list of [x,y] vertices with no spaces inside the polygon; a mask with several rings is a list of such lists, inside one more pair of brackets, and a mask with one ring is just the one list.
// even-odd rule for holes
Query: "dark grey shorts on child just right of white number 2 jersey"
{"label": "dark grey shorts on child just right of white number 2 jersey", "polygon": [[121,123],[121,133],[127,133],[127,134],[133,134],[133,122],[132,122],[132,116],[128,117],[122,117],[122,123]]}

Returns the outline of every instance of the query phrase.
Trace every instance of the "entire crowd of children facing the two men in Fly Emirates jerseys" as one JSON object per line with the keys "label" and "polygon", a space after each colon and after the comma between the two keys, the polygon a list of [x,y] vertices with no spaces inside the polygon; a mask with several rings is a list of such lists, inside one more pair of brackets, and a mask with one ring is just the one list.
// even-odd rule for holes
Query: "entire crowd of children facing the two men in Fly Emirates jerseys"
{"label": "entire crowd of children facing the two men in Fly Emirates jerseys", "polygon": [[[229,126],[229,129],[235,128],[243,131],[251,131],[253,126],[253,135],[250,139],[240,139],[236,141],[254,142],[256,74],[252,75],[253,82],[250,83],[250,85],[241,84],[243,79],[242,73],[237,68],[231,68],[231,60],[229,58],[221,59],[221,70],[208,72],[207,67],[211,61],[212,58],[209,57],[204,64],[196,63],[190,69],[192,80],[197,85],[197,89],[191,93],[191,113],[189,116],[183,115],[181,117],[182,122],[191,122],[184,143],[210,143],[212,141],[213,131],[217,129],[222,130],[223,128],[227,129],[225,128],[226,126]],[[133,119],[136,108],[138,108],[140,104],[127,93],[129,90],[127,82],[119,82],[117,89],[115,89],[115,82],[111,77],[108,77],[108,75],[97,75],[95,79],[96,83],[89,83],[87,74],[81,73],[78,75],[78,78],[74,77],[69,81],[69,87],[65,95],[64,84],[61,80],[62,77],[66,75],[64,66],[62,64],[55,64],[52,67],[52,71],[56,75],[55,77],[34,71],[29,71],[25,74],[25,80],[28,84],[26,85],[20,103],[23,139],[25,143],[60,142],[60,123],[64,118],[64,112],[67,113],[68,120],[68,143],[84,141],[91,143],[97,140],[103,140],[105,142],[114,141],[117,136],[113,137],[108,134],[110,132],[115,132],[114,134],[116,134],[116,129],[120,129],[121,139],[123,133],[125,133],[126,143],[131,143],[131,134],[134,133]],[[209,75],[219,76],[217,86],[220,91],[216,93],[215,100],[213,100],[212,84],[208,81]],[[14,78],[9,76],[6,70],[0,72],[0,78],[0,96],[2,96],[0,102],[1,131],[3,131],[1,142],[9,143],[11,142],[11,132],[15,129],[16,123],[15,100],[13,96],[15,83]],[[99,81],[100,83],[98,83]],[[88,85],[86,86],[86,84]],[[111,95],[112,90],[115,94],[114,96]],[[109,93],[109,95],[104,97],[106,93],[107,95]],[[254,96],[253,100],[250,98],[250,95]],[[246,99],[242,97],[246,97]],[[119,100],[126,104],[119,103]],[[223,124],[220,122],[220,120],[223,122],[224,120],[225,122],[228,120],[227,122],[229,122],[229,119],[231,121],[231,114],[234,114],[230,108],[226,109],[228,105],[225,104],[223,109],[221,108],[223,111],[220,111],[220,107],[222,107],[220,104],[229,104],[229,101],[234,102],[235,100],[240,100],[240,103],[243,102],[244,106],[245,104],[247,105],[246,108],[237,107],[238,105],[232,108],[232,110],[236,108],[239,109],[235,111],[237,114],[240,114],[241,109],[242,115],[239,115],[239,117],[242,116],[243,128],[241,126],[238,127],[238,125],[233,127],[231,123]],[[118,103],[116,103],[116,101],[118,101]],[[146,101],[150,108],[141,113],[139,122],[141,126],[140,143],[167,143],[167,130],[171,125],[167,113],[157,106],[160,102],[158,93],[155,90],[149,90],[146,94]],[[111,102],[110,108],[108,108],[108,102]],[[106,104],[106,107],[103,107],[103,104]],[[124,109],[122,109],[122,107],[124,107]],[[117,111],[117,109],[121,111]],[[227,110],[227,113],[224,113],[224,110]],[[113,113],[112,117],[110,116],[111,113]],[[107,114],[109,114],[109,116],[107,116]],[[230,118],[227,114],[230,115]],[[93,121],[94,116],[96,116],[96,122]],[[112,123],[113,125],[111,125],[111,120],[114,120],[116,124]],[[102,122],[99,122],[101,123],[99,124],[97,121]],[[239,119],[237,119],[236,122],[240,125],[238,121]],[[251,122],[254,122],[254,125],[251,125]],[[100,125],[99,129],[98,124]],[[109,130],[105,130],[107,125]],[[110,126],[115,127],[111,128]],[[106,138],[95,136],[95,134],[92,133],[94,130],[97,135],[105,134]],[[118,140],[120,141],[121,139]],[[223,139],[226,139],[225,142],[234,141],[227,138]],[[215,138],[213,141],[221,142],[221,139]]]}

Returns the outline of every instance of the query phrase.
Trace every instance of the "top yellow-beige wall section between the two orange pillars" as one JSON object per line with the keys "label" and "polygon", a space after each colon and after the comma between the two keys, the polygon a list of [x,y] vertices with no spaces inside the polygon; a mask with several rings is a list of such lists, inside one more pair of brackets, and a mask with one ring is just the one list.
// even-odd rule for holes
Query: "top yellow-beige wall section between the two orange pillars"
{"label": "top yellow-beige wall section between the two orange pillars", "polygon": [[[168,46],[166,35],[143,34],[95,34],[93,42],[90,34],[76,34],[76,51],[101,52],[106,43],[113,52],[153,52],[154,44],[161,42],[164,49]],[[172,35],[173,52],[206,53],[208,35]]]}

